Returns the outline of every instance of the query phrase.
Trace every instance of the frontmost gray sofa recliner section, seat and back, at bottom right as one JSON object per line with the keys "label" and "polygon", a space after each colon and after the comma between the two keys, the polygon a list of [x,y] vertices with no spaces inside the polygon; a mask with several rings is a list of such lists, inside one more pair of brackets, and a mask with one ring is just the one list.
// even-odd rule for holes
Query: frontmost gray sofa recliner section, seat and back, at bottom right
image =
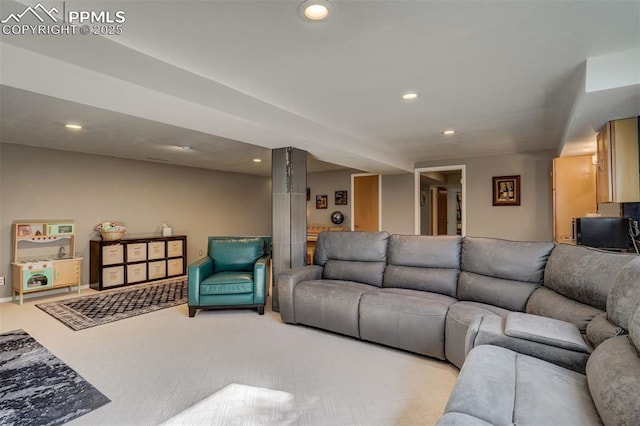
{"label": "frontmost gray sofa recliner section, seat and back, at bottom right", "polygon": [[[632,313],[629,335],[600,344],[583,373],[531,356],[527,348],[474,347],[437,425],[640,424],[640,305]],[[478,336],[483,328],[486,323]]]}

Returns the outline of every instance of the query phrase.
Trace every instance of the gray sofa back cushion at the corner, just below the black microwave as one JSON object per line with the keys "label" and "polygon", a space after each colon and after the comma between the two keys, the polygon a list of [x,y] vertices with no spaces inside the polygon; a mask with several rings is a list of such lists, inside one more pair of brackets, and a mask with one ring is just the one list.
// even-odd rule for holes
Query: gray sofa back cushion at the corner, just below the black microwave
{"label": "gray sofa back cushion at the corner, just below the black microwave", "polygon": [[558,244],[544,271],[544,286],[578,302],[606,309],[607,295],[622,267],[635,256]]}

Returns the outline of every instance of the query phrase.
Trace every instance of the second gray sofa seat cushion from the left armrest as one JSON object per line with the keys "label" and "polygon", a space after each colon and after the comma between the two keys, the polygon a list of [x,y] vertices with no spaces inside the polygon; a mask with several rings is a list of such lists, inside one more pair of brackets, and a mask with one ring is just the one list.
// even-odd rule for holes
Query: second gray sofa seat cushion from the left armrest
{"label": "second gray sofa seat cushion from the left armrest", "polygon": [[382,289],[360,300],[360,337],[445,359],[444,324],[456,299],[407,289]]}

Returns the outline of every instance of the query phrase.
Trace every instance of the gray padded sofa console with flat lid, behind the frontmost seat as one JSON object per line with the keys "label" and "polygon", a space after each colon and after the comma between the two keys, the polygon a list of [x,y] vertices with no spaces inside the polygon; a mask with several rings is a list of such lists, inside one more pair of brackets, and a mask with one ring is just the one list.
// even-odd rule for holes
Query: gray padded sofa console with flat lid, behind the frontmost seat
{"label": "gray padded sofa console with flat lid, behind the frontmost seat", "polygon": [[[523,313],[510,313],[505,318],[476,318],[467,331],[466,350],[478,345],[502,346],[584,374],[589,348],[577,327],[579,337],[567,331],[570,327],[564,324],[568,323],[556,321]],[[583,340],[582,345],[579,339]]]}

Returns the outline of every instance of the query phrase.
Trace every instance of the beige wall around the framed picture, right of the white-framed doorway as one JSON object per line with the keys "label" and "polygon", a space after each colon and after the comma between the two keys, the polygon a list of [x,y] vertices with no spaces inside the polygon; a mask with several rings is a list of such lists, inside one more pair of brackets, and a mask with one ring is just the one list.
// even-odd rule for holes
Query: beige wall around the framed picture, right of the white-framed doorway
{"label": "beige wall around the framed picture, right of the white-framed doorway", "polygon": [[[533,151],[458,160],[420,162],[416,168],[466,165],[467,235],[551,241],[551,160],[555,151]],[[521,176],[521,205],[492,205],[493,176]]]}

